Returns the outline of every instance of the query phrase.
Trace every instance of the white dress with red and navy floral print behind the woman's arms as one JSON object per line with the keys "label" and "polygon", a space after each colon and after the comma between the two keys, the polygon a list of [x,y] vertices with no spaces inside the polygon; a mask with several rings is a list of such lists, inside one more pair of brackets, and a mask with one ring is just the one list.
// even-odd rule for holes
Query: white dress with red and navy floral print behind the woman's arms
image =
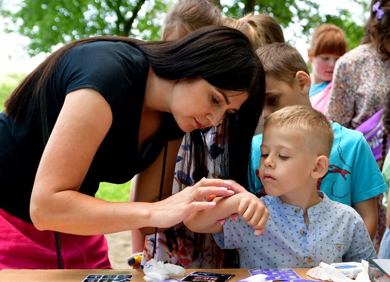
{"label": "white dress with red and navy floral print behind the woman's arms", "polygon": [[[216,133],[215,133],[216,132]],[[225,152],[225,146],[221,144],[217,131],[209,130],[205,133],[206,142],[209,146],[208,175],[205,177],[215,178],[212,161]],[[183,184],[184,187],[195,184],[192,168],[189,172],[183,171],[183,155],[189,151],[189,147],[182,144],[176,159],[176,169],[172,192],[177,193]],[[189,180],[187,179],[189,173]],[[200,237],[199,237],[200,236]],[[164,263],[173,263],[185,268],[222,268],[225,263],[225,251],[221,250],[215,243],[212,234],[194,233],[187,229],[184,224],[179,224],[164,231],[157,232],[156,251],[154,258]],[[195,248],[195,242],[202,242],[201,246]],[[153,258],[155,246],[155,234],[146,236],[142,253],[141,266]],[[236,256],[238,258],[238,255]],[[238,265],[238,262],[236,262]]]}

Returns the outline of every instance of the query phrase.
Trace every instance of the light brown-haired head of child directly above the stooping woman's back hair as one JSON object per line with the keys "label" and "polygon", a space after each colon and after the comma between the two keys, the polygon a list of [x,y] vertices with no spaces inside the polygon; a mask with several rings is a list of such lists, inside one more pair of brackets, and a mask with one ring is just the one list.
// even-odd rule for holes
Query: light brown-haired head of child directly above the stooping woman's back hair
{"label": "light brown-haired head of child directly above the stooping woman's back hair", "polygon": [[221,12],[207,0],[183,0],[169,9],[162,27],[162,40],[182,38],[200,27],[222,24]]}

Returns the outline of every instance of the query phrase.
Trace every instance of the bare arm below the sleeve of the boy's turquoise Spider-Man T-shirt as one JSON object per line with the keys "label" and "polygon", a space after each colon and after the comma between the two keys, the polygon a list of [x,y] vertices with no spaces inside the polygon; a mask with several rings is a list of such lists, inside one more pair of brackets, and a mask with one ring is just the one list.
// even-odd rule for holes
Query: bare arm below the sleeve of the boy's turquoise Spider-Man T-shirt
{"label": "bare arm below the sleeve of the boy's turquoise Spider-Man T-shirt", "polygon": [[376,197],[372,197],[366,201],[352,204],[352,207],[357,211],[363,219],[364,225],[370,234],[371,240],[374,239],[376,227],[378,225],[378,211],[376,208]]}

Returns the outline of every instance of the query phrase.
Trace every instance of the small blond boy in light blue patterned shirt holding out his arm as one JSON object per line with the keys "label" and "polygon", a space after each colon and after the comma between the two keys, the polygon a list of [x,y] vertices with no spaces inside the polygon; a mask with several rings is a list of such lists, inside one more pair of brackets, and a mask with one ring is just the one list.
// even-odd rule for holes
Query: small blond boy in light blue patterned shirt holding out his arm
{"label": "small blond boy in light blue patterned shirt holding out his arm", "polygon": [[[259,175],[267,196],[247,192],[217,198],[213,210],[195,212],[184,224],[215,233],[221,248],[238,248],[240,267],[313,267],[375,258],[359,214],[317,191],[333,143],[326,117],[311,107],[285,107],[266,119],[263,135]],[[216,224],[234,212],[237,221]]]}

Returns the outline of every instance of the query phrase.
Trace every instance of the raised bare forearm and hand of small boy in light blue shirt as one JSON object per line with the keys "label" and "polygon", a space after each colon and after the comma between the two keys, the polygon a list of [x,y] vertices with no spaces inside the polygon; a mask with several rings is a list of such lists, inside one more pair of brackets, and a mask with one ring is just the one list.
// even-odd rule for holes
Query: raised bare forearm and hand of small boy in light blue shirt
{"label": "raised bare forearm and hand of small boy in light blue shirt", "polygon": [[185,226],[199,233],[222,233],[223,226],[217,225],[217,221],[238,213],[242,218],[253,226],[255,235],[263,233],[268,220],[268,210],[254,194],[242,192],[233,196],[217,197],[213,210],[201,210],[192,213],[186,220]]}

